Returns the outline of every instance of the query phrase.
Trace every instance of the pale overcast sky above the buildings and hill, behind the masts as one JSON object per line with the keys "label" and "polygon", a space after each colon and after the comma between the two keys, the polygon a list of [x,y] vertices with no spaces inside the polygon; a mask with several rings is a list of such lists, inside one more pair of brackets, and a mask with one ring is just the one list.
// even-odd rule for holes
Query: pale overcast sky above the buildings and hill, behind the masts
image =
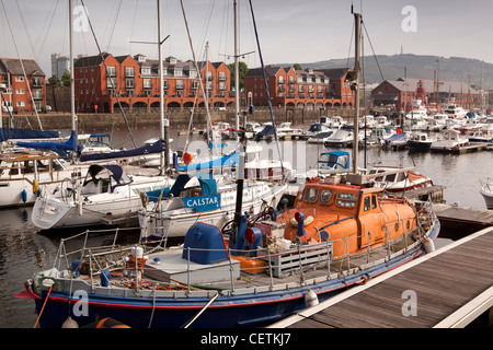
{"label": "pale overcast sky above the buildings and hill, behind the masts", "polygon": [[[50,55],[69,55],[68,1],[2,0],[21,57],[36,59],[48,77]],[[250,68],[259,67],[249,1],[238,2],[240,52],[255,51],[242,60]],[[404,54],[493,62],[491,0],[252,0],[264,63],[303,63],[353,56],[352,2],[355,11],[363,12],[377,55],[400,54],[402,47]],[[73,3],[78,7],[81,1]],[[232,62],[228,55],[233,54],[233,0],[183,3],[197,60],[205,58],[204,46],[209,42],[209,60]],[[157,40],[156,0],[85,0],[84,4],[103,51],[158,58],[157,45],[131,43]],[[18,58],[3,7],[0,15],[0,57]],[[78,18],[76,14],[74,20]],[[162,21],[163,37],[170,35],[163,56],[191,59],[180,0],[162,0]],[[98,54],[90,31],[74,33],[74,52]],[[372,54],[368,42],[365,54]]]}

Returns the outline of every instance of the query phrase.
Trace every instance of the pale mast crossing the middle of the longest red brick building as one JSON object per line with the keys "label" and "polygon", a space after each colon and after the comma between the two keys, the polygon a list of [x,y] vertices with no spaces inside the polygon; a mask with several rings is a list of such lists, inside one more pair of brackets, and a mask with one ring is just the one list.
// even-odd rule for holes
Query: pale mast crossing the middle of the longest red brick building
{"label": "pale mast crossing the middle of the longest red brick building", "polygon": [[170,120],[164,117],[164,86],[163,86],[163,68],[162,68],[162,43],[161,39],[161,0],[158,0],[158,45],[159,45],[159,114],[161,139],[164,140],[164,156],[160,155],[161,174],[168,173],[170,165],[170,138],[169,126]]}

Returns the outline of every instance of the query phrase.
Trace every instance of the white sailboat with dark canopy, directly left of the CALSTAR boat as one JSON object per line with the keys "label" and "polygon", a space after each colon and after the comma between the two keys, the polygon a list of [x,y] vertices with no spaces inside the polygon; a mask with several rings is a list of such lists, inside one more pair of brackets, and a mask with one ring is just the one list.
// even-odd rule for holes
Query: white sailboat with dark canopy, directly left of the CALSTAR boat
{"label": "white sailboat with dark canopy, directly left of the CALSTAR boat", "polygon": [[167,176],[129,176],[119,165],[93,164],[80,187],[37,198],[32,221],[42,230],[102,224],[104,217],[137,213],[141,208],[139,192],[171,183]]}

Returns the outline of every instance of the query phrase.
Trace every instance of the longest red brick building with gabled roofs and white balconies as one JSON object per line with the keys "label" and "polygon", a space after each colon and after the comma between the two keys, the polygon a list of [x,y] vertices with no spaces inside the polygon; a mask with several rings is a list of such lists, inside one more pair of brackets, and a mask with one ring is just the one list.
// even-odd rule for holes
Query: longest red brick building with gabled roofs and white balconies
{"label": "longest red brick building with gabled roofs and white balconies", "polygon": [[[144,55],[131,57],[103,54],[82,57],[74,63],[76,105],[79,112],[113,113],[118,101],[129,112],[150,112],[159,108],[159,60]],[[230,72],[223,62],[199,62],[204,90],[209,106],[226,107],[230,97]],[[206,78],[207,75],[207,78]],[[206,84],[207,79],[207,84]],[[114,88],[114,89],[113,89]],[[174,57],[163,61],[164,107],[183,109],[204,106],[198,73],[192,61],[182,62]]]}

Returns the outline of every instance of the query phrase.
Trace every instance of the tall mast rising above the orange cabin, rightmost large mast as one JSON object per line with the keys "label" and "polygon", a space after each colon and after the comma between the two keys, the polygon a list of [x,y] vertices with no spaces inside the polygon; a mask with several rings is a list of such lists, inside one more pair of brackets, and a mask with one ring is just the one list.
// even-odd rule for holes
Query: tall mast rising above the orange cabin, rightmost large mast
{"label": "tall mast rising above the orange cabin, rightmost large mast", "polygon": [[[352,9],[353,12],[353,9]],[[354,55],[354,74],[352,75],[352,89],[355,92],[355,114],[354,114],[354,140],[353,140],[353,172],[357,174],[358,172],[358,122],[359,122],[359,40],[360,40],[360,23],[362,23],[362,14],[355,13],[355,55]],[[366,131],[365,131],[366,132]]]}

